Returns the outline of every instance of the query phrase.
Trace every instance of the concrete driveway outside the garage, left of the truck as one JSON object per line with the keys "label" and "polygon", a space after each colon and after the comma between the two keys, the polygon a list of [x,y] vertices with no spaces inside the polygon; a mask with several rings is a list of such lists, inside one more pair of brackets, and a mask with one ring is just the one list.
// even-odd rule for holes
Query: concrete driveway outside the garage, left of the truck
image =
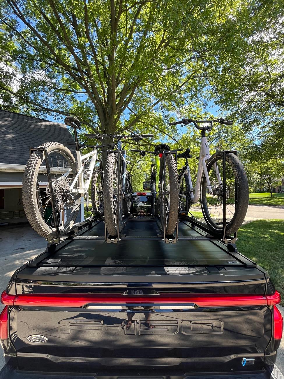
{"label": "concrete driveway outside the garage, left of the truck", "polygon": [[[257,205],[261,207],[261,205]],[[274,217],[276,218],[276,217]],[[0,227],[0,290],[5,290],[11,275],[17,268],[28,260],[36,257],[45,250],[47,241],[37,235],[28,225]],[[0,304],[0,312],[4,305]],[[284,317],[284,308],[279,307]],[[278,351],[276,362],[278,368],[284,373],[284,338]],[[0,351],[0,370],[5,365],[2,349]]]}

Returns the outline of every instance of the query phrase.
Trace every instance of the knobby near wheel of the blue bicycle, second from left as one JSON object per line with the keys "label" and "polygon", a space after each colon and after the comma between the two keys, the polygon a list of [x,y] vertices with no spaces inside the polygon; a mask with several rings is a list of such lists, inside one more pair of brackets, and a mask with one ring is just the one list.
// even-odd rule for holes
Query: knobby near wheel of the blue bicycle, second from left
{"label": "knobby near wheel of the blue bicycle, second from left", "polygon": [[105,209],[106,229],[111,236],[117,235],[117,227],[121,227],[123,199],[121,193],[121,173],[115,153],[106,158],[106,169],[103,186],[103,202]]}

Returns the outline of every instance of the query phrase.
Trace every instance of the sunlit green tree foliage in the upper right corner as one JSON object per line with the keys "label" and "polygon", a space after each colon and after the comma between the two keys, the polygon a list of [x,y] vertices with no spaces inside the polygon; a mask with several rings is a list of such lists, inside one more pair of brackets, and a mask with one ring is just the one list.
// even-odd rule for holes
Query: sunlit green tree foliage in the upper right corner
{"label": "sunlit green tree foliage in the upper right corner", "polygon": [[[248,20],[248,15],[250,20]],[[251,132],[266,156],[284,156],[284,6],[282,0],[239,3],[237,38],[223,41],[217,73],[207,60],[208,94]]]}

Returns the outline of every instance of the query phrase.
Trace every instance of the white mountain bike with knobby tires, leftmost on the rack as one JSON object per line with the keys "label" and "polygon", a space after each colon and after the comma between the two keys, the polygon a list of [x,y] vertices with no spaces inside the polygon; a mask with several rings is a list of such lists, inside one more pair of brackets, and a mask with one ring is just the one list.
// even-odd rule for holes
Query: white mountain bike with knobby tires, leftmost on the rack
{"label": "white mountain bike with knobby tires, leftmost on the rack", "polygon": [[[90,183],[92,211],[97,216],[104,213],[101,161],[100,168],[95,168],[97,149],[103,146],[80,144],[77,135],[80,121],[67,116],[64,122],[74,130],[76,160],[66,146],[58,142],[44,143],[33,149],[23,174],[22,196],[26,216],[33,229],[47,239],[55,232],[60,235],[69,232],[81,205],[84,205],[84,197],[88,208]],[[103,140],[103,135],[92,137]],[[82,147],[92,151],[81,155]]]}

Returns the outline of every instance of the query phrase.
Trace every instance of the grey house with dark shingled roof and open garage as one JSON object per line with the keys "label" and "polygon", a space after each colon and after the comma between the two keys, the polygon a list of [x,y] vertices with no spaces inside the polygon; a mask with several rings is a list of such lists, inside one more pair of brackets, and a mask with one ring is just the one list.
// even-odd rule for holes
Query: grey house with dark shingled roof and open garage
{"label": "grey house with dark shingled roof and open garage", "polygon": [[22,203],[23,172],[30,147],[49,141],[66,145],[75,155],[74,139],[66,125],[0,110],[0,224],[27,221]]}

